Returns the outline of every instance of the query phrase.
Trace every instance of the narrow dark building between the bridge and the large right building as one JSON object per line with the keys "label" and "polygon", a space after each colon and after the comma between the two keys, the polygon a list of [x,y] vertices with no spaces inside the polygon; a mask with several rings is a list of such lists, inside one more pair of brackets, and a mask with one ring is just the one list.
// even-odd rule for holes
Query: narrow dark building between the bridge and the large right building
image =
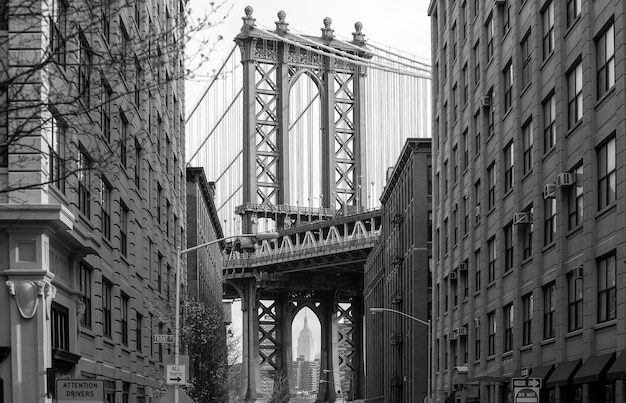
{"label": "narrow dark building between the bridge and the large right building", "polygon": [[365,265],[368,402],[421,402],[428,393],[431,140],[408,139],[380,198],[381,238]]}

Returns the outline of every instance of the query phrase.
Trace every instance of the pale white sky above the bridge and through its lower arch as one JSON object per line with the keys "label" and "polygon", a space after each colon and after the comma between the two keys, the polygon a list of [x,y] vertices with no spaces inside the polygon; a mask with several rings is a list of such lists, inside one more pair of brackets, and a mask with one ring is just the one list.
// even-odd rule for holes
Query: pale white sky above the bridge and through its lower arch
{"label": "pale white sky above the bridge and through its lower arch", "polygon": [[[430,59],[430,19],[427,15],[430,0],[227,0],[221,3],[217,13],[210,20],[219,22],[212,28],[204,30],[190,43],[187,55],[193,55],[194,46],[198,49],[203,40],[216,43],[215,50],[210,54],[210,62],[203,65],[198,79],[189,80],[186,84],[187,110],[195,105],[202,90],[208,85],[208,77],[213,70],[219,68],[233,45],[233,39],[239,33],[241,18],[245,15],[244,8],[254,8],[253,17],[259,28],[274,30],[278,21],[277,13],[285,11],[289,29],[298,34],[321,35],[325,17],[332,20],[331,28],[340,39],[352,39],[355,31],[354,23],[363,24],[363,34],[367,40],[383,44],[395,49],[414,54],[423,59]],[[204,16],[210,9],[209,0],[190,0],[191,18]],[[222,36],[222,40],[217,40]],[[206,50],[204,50],[206,51]],[[192,68],[194,68],[192,66]],[[241,334],[241,307],[233,305],[233,328]],[[320,344],[320,327],[312,312],[307,314],[309,328],[315,337],[316,349]],[[295,318],[293,325],[294,354],[297,352],[296,339],[304,326],[302,312]],[[315,354],[315,353],[314,353]]]}

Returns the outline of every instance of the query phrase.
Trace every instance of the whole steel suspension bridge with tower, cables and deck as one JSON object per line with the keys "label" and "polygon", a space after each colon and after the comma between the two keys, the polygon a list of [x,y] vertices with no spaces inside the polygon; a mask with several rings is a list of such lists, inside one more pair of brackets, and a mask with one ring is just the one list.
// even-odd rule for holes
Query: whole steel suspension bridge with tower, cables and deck
{"label": "whole steel suspension bridge with tower, cables and deck", "polygon": [[[318,401],[362,397],[363,265],[378,240],[378,196],[409,137],[430,135],[430,65],[320,23],[297,33],[246,7],[232,51],[186,122],[188,166],[215,183],[227,235],[276,231],[226,255],[225,298],[241,298],[245,401],[261,376],[292,382],[292,320],[321,324]],[[293,385],[290,385],[293,390]]]}

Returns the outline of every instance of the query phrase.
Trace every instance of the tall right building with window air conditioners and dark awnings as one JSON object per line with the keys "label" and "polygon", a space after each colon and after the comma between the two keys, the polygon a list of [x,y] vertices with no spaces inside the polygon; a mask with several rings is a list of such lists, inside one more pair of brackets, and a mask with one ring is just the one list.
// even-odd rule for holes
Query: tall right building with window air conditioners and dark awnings
{"label": "tall right building with window air conditioners and dark awnings", "polygon": [[429,15],[433,401],[624,402],[626,3]]}

